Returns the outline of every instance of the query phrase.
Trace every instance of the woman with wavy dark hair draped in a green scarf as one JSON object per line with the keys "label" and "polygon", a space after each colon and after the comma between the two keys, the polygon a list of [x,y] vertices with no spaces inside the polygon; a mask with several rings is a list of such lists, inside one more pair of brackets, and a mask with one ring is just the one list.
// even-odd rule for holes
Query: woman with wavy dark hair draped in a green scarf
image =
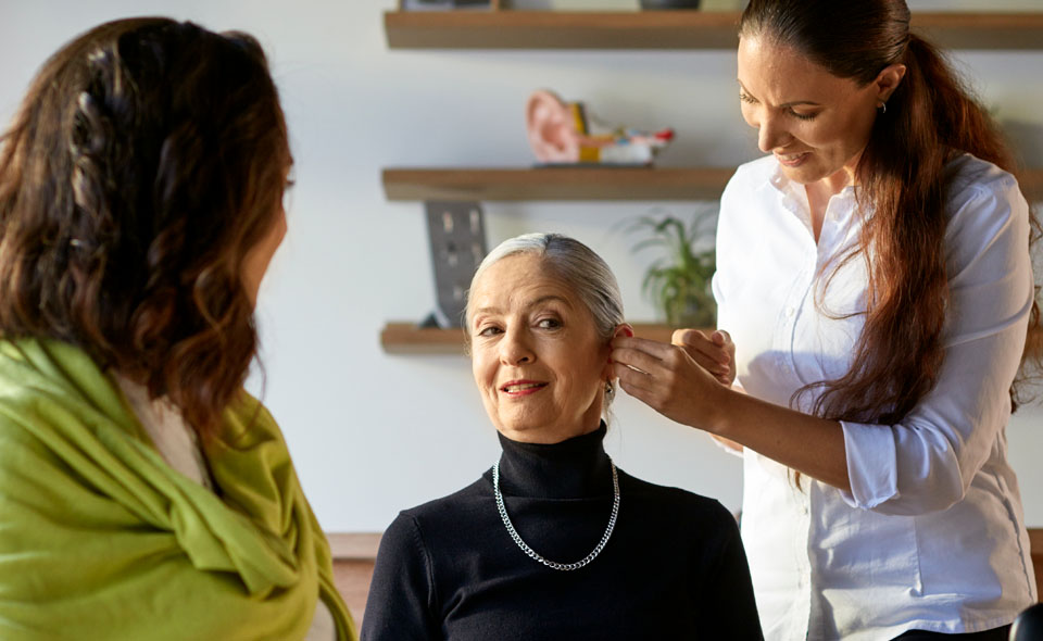
{"label": "woman with wavy dark hair draped in a green scarf", "polygon": [[257,42],[101,25],[0,148],[0,638],[353,639],[242,388],[292,163]]}

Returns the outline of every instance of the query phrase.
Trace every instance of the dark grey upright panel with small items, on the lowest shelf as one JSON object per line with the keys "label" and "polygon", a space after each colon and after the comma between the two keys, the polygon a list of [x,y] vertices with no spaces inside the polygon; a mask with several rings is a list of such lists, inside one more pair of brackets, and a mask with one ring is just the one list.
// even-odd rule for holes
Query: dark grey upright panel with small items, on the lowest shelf
{"label": "dark grey upright panel with small items, on the lowest shelf", "polygon": [[461,327],[470,278],[486,257],[486,226],[477,202],[425,202],[437,307],[424,327]]}

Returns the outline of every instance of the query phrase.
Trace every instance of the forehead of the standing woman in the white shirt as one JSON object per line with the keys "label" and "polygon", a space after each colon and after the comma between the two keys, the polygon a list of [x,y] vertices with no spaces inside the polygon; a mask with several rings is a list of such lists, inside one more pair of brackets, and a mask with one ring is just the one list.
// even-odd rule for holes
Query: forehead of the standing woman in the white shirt
{"label": "forehead of the standing woman in the white shirt", "polygon": [[759,36],[739,40],[739,81],[768,103],[842,100],[858,89],[851,78],[834,76],[801,51]]}

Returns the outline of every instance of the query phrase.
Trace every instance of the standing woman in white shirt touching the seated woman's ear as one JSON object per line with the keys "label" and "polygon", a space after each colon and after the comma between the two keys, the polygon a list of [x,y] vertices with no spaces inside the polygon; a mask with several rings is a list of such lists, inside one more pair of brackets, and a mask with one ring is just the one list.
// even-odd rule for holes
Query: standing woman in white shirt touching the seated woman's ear
{"label": "standing woman in white shirt touching the seated woman's ear", "polygon": [[1005,640],[1038,599],[1006,456],[1039,326],[1010,153],[904,0],[752,0],[739,98],[770,155],[721,198],[721,330],[616,339],[620,385],[744,452],[768,639]]}

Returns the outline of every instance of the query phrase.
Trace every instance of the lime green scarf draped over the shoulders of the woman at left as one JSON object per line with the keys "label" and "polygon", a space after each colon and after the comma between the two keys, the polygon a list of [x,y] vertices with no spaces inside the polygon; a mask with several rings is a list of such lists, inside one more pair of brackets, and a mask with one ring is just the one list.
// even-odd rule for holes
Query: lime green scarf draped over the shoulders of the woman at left
{"label": "lime green scarf draped over the shoulders of the woman at left", "polygon": [[303,639],[354,624],[278,426],[246,392],[171,468],[83,351],[0,340],[0,639]]}

